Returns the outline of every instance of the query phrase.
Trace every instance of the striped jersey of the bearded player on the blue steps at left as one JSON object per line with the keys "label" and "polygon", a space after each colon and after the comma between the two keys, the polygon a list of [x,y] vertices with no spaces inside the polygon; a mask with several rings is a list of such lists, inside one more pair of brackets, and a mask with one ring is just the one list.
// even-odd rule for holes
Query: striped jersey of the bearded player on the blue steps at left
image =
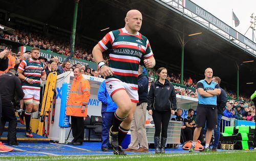
{"label": "striped jersey of the bearded player on the blue steps at left", "polygon": [[23,75],[29,79],[33,79],[34,83],[29,84],[27,81],[22,82],[23,89],[40,90],[40,78],[44,75],[44,63],[39,60],[34,61],[31,58],[20,62],[18,68],[23,71]]}

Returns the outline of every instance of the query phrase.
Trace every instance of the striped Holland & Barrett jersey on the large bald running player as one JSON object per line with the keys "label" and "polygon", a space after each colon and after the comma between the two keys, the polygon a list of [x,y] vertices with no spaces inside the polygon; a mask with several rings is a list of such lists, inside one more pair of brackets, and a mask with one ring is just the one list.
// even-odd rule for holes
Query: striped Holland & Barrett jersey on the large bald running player
{"label": "striped Holland & Barrett jersey on the large bald running player", "polygon": [[148,39],[137,32],[129,34],[125,28],[111,31],[98,42],[99,46],[110,53],[110,67],[113,76],[138,89],[138,68],[142,57],[148,59],[153,56]]}

